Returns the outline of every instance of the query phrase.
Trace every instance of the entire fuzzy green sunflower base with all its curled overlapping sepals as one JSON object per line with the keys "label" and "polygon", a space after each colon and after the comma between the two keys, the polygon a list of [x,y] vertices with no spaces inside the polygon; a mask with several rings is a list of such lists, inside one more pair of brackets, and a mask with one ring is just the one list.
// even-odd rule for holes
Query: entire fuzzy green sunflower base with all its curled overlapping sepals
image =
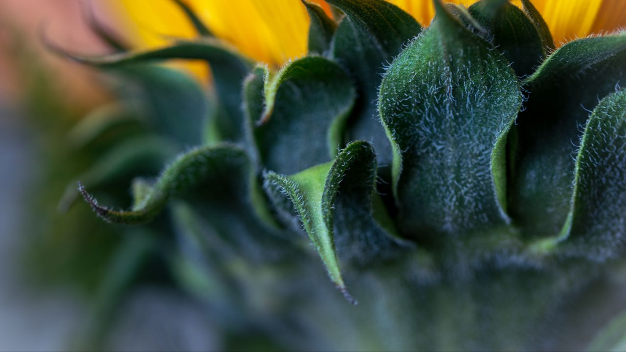
{"label": "entire fuzzy green sunflower base with all its curled overlapping sepals", "polygon": [[[120,169],[134,173],[133,207],[81,193],[109,222],[154,221],[138,228],[175,248],[173,282],[228,307],[212,311],[228,316],[225,335],[253,326],[285,349],[550,349],[568,302],[623,265],[625,34],[549,53],[529,1],[435,0],[424,29],[381,0],[329,0],[340,22],[304,2],[310,54],[273,71],[176,3],[202,38],[64,53],[144,92],[145,118],[120,103],[72,138],[141,126],[133,138],[154,147],[118,138],[111,169],[80,178],[100,197]],[[173,58],[207,61],[215,91],[151,65]],[[135,168],[172,150],[155,180]],[[620,346],[610,329],[592,346]]]}

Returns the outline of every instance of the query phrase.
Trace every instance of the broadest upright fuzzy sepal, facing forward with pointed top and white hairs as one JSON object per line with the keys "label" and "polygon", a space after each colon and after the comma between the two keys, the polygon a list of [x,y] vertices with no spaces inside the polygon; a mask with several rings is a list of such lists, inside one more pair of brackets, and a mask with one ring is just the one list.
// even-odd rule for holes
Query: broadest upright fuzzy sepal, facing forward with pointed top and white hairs
{"label": "broadest upright fuzzy sepal, facing forward with pointed top and white hairs", "polygon": [[379,110],[401,230],[462,236],[508,221],[505,144],[521,93],[503,56],[435,7],[387,70]]}

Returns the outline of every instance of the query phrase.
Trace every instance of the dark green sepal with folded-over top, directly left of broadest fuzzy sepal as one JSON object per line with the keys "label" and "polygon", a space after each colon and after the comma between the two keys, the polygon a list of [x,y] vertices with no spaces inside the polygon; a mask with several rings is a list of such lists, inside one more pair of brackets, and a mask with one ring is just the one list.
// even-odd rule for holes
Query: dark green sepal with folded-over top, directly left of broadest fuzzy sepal
{"label": "dark green sepal with folded-over top, directly left of broadest fuzzy sepal", "polygon": [[403,44],[421,31],[419,23],[397,6],[382,0],[329,0],[346,14],[331,43],[332,57],[346,67],[356,82],[357,99],[348,141],[374,144],[378,163],[391,163],[391,145],[376,116],[376,98],[385,66]]}

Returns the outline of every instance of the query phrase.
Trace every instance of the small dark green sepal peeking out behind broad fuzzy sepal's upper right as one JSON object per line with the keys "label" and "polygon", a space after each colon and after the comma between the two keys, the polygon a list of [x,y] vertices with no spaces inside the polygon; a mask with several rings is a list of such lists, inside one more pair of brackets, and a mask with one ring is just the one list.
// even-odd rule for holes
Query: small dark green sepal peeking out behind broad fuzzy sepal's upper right
{"label": "small dark green sepal peeking out behind broad fuzzy sepal's upper right", "polygon": [[489,31],[491,43],[503,52],[518,76],[530,75],[545,58],[535,24],[508,0],[482,0],[470,6],[469,13]]}

